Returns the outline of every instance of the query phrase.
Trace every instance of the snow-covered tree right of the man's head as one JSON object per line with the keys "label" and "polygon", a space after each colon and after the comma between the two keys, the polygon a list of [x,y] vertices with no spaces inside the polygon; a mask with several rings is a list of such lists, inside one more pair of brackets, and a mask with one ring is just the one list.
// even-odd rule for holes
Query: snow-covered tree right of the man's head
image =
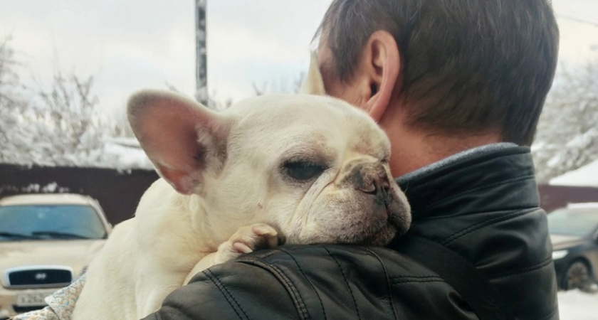
{"label": "snow-covered tree right of the man's head", "polygon": [[540,183],[598,159],[598,57],[583,65],[560,65],[533,156]]}

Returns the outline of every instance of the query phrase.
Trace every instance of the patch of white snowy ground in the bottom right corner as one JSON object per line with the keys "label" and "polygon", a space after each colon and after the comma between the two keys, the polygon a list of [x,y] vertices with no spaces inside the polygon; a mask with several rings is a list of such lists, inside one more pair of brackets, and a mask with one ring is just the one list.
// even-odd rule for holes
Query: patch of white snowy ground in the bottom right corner
{"label": "patch of white snowy ground in the bottom right corner", "polygon": [[579,290],[560,291],[560,320],[597,320],[598,292],[581,292]]}

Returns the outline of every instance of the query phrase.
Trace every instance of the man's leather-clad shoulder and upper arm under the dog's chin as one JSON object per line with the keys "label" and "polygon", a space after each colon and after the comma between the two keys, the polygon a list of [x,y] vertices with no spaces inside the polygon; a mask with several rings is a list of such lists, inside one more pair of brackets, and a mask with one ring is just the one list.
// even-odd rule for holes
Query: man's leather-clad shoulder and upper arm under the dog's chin
{"label": "man's leather-clad shoulder and upper arm under the dog's chin", "polygon": [[148,319],[477,319],[462,307],[438,274],[393,250],[283,246],[197,274]]}

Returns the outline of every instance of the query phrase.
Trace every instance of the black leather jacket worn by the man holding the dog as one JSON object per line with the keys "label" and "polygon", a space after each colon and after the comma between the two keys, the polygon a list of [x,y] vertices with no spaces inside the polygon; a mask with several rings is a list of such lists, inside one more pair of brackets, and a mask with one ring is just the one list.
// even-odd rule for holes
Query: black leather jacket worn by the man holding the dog
{"label": "black leather jacket worn by the man holding the dog", "polygon": [[[413,210],[411,233],[476,265],[515,319],[558,319],[546,214],[528,148],[474,149],[398,182]],[[392,247],[311,245],[211,267],[145,319],[478,317],[438,274]]]}

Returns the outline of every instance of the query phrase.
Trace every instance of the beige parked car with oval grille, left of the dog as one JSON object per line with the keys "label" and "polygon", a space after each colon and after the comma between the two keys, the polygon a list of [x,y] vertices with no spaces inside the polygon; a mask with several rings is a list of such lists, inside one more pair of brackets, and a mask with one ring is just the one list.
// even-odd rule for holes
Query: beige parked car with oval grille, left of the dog
{"label": "beige parked car with oval grille, left of the dog", "polygon": [[0,319],[41,309],[76,279],[111,230],[97,201],[78,194],[0,199]]}

